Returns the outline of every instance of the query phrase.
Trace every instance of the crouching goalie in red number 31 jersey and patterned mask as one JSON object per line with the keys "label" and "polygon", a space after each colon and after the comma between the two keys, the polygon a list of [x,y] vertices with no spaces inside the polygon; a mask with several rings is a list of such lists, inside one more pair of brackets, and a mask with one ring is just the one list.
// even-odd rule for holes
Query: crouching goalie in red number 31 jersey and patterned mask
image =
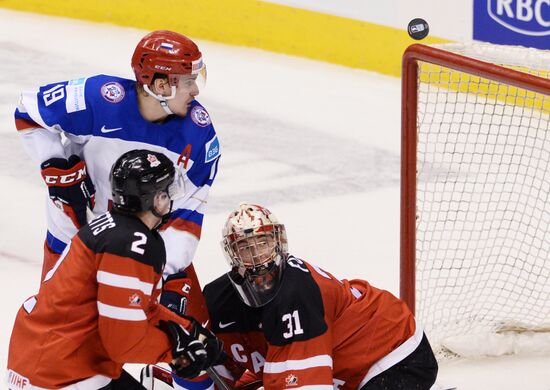
{"label": "crouching goalie in red number 31 jersey and patterned mask", "polygon": [[222,247],[231,271],[204,289],[212,330],[265,389],[434,384],[437,361],[405,303],[290,255],[284,225],[266,208],[233,211]]}

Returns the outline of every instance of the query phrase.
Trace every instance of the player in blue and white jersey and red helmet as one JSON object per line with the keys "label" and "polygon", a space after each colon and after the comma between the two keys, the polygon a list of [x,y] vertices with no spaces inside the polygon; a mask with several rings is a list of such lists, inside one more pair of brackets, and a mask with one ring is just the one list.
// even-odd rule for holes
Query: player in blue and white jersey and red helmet
{"label": "player in blue and white jersey and red helmet", "polygon": [[202,55],[187,37],[154,31],[138,43],[132,68],[136,80],[96,75],[22,93],[16,127],[49,195],[42,279],[78,229],[110,208],[109,170],[116,159],[133,149],[153,150],[173,161],[185,188],[161,234],[170,275],[165,288],[170,282],[185,287],[187,296],[166,306],[187,309],[204,323],[208,315],[191,261],[220,145],[208,112],[195,100],[206,77]]}

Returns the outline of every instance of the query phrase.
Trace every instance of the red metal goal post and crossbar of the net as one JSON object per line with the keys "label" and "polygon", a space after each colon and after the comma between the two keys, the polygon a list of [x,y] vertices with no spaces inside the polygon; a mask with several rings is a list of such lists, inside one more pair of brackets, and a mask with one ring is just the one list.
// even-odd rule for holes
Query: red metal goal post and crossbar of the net
{"label": "red metal goal post and crossbar of the net", "polygon": [[405,50],[401,80],[401,248],[399,293],[409,308],[416,306],[416,145],[418,61],[442,65],[518,88],[550,95],[550,79],[414,44]]}

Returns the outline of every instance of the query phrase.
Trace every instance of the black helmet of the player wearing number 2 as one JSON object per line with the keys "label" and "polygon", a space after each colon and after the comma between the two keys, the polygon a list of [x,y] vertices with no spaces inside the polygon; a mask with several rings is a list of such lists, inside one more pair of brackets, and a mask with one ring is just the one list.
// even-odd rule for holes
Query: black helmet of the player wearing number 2
{"label": "black helmet of the player wearing number 2", "polygon": [[145,149],[124,153],[109,175],[113,209],[126,213],[154,210],[159,191],[171,195],[175,173],[174,164],[162,153]]}

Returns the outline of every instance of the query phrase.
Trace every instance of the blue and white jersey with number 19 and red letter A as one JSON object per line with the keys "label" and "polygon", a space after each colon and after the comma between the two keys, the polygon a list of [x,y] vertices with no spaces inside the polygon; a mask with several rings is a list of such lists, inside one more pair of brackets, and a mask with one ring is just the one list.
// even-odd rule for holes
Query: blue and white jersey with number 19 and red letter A
{"label": "blue and white jersey with number 19 and red letter A", "polygon": [[[184,176],[186,195],[176,200],[163,228],[165,273],[191,263],[220,157],[210,116],[197,101],[185,117],[171,115],[162,123],[149,122],[140,114],[135,81],[97,75],[24,92],[15,121],[27,152],[38,164],[72,154],[86,161],[96,188],[96,215],[108,209],[109,171],[121,154],[150,149],[172,159]],[[49,200],[47,223],[48,244],[61,253],[77,229]]]}

